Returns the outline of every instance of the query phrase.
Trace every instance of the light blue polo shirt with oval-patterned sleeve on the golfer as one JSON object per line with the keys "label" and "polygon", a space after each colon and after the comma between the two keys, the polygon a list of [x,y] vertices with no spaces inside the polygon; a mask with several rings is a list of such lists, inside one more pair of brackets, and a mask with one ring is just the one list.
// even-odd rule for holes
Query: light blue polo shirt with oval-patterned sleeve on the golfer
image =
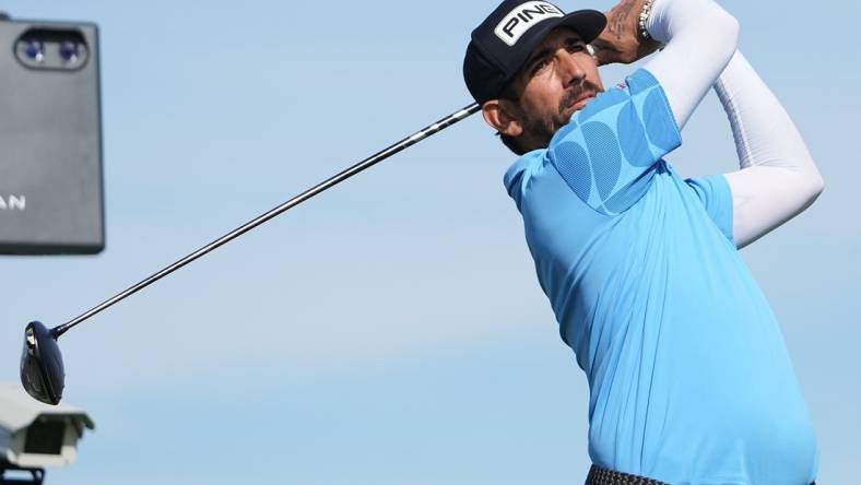
{"label": "light blue polo shirt with oval-patterned sleeve on the golfer", "polygon": [[813,428],[733,244],[730,188],[721,175],[683,180],[661,158],[679,145],[663,90],[640,69],[505,175],[589,380],[589,454],[674,485],[806,485]]}

